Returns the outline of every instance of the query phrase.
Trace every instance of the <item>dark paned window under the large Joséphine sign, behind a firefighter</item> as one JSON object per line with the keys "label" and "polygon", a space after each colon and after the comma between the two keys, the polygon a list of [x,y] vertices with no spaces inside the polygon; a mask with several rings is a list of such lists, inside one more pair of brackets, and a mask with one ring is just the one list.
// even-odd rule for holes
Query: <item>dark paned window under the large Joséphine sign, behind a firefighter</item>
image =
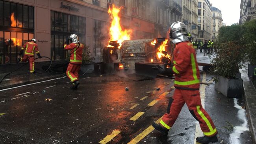
{"label": "dark paned window under the large Jos\u00e9phine sign, behind a firefighter", "polygon": [[51,59],[63,60],[67,51],[63,49],[67,36],[75,33],[85,43],[85,18],[51,11]]}

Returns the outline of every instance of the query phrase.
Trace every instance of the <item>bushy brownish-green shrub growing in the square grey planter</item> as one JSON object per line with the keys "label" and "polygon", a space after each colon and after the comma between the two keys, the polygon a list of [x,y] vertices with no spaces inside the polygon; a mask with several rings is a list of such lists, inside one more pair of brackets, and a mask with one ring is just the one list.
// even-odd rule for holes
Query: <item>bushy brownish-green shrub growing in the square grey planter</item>
{"label": "bushy brownish-green shrub growing in the square grey planter", "polygon": [[212,74],[234,78],[245,62],[245,41],[241,25],[221,27],[214,51]]}

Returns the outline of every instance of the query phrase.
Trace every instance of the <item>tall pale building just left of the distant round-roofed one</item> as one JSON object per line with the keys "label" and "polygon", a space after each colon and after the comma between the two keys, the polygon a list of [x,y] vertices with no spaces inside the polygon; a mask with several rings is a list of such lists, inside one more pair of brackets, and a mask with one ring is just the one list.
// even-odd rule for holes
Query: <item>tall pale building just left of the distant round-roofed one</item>
{"label": "tall pale building just left of the distant round-roofed one", "polygon": [[211,40],[212,12],[209,0],[198,0],[198,40]]}

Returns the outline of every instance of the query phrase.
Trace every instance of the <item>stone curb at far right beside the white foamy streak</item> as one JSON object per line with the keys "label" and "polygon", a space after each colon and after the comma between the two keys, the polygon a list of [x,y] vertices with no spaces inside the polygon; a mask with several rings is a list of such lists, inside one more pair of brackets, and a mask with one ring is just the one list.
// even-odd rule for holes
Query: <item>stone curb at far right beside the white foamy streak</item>
{"label": "stone curb at far right beside the white foamy streak", "polygon": [[[240,70],[243,79],[244,97],[246,113],[248,118],[249,130],[252,137],[252,144],[256,144],[256,119],[253,117],[256,111],[256,106],[252,106],[253,100],[256,98],[256,90],[250,80],[247,70]],[[254,114],[253,114],[254,112]]]}

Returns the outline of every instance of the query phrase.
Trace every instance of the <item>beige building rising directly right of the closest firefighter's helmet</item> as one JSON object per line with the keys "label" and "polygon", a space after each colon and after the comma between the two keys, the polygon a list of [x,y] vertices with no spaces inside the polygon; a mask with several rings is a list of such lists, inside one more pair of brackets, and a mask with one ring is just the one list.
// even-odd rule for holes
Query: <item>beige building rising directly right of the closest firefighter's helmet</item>
{"label": "beige building rising directly right of the closest firefighter's helmet", "polygon": [[193,40],[198,37],[198,0],[182,0],[182,22],[187,25],[187,31]]}

